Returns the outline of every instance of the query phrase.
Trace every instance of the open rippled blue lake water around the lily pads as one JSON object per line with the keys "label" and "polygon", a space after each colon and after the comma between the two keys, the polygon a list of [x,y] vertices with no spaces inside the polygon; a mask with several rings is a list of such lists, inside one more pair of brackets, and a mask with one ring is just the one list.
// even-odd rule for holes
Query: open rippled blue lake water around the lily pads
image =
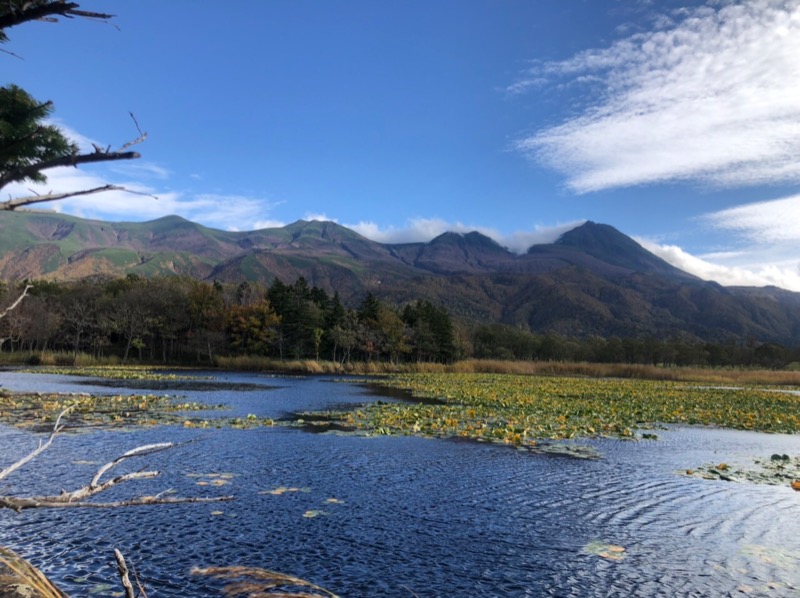
{"label": "open rippled blue lake water around the lily pads", "polygon": [[[237,416],[281,418],[397,400],[320,377],[210,375],[255,386],[179,394],[228,404]],[[142,392],[16,372],[0,372],[0,385]],[[133,463],[163,473],[123,485],[103,500],[166,489],[236,500],[0,511],[0,544],[74,596],[119,590],[114,548],[135,566],[151,598],[218,596],[216,582],[189,570],[222,565],[281,571],[340,596],[800,595],[800,492],[676,473],[723,461],[751,465],[772,453],[797,455],[800,436],[690,427],[658,435],[657,441],[584,441],[603,454],[587,461],[474,442],[285,427],[65,434],[0,491],[72,489],[135,446],[199,439]],[[34,434],[0,426],[0,466],[37,442]],[[214,473],[233,477],[221,487],[197,484],[219,479],[208,476]],[[303,491],[268,493],[279,487]],[[306,516],[310,512],[321,513]],[[625,558],[591,554],[585,547],[592,542],[623,546]]]}

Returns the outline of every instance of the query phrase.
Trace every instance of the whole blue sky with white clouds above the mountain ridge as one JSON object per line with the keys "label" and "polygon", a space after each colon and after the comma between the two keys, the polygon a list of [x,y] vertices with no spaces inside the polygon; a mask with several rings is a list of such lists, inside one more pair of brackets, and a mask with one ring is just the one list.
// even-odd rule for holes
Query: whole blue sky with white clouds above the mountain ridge
{"label": "whole blue sky with white clouds above the mountain ridge", "polygon": [[[147,141],[53,209],[514,250],[585,220],[723,284],[800,291],[800,0],[84,0],[5,82],[76,140]],[[15,195],[26,188],[11,190]]]}

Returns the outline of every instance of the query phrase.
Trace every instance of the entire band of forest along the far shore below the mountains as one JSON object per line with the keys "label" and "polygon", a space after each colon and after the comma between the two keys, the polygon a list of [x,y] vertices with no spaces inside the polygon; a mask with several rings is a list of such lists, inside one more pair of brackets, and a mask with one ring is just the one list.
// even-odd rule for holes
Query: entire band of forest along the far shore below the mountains
{"label": "entire band of forest along the far shore below the mountains", "polygon": [[[136,275],[24,286],[24,301],[0,319],[0,352],[33,364],[47,352],[201,366],[236,356],[342,365],[478,358],[769,369],[800,361],[797,348],[755,339],[569,338],[458,321],[425,300],[398,306],[367,294],[348,306],[302,277],[268,287]],[[0,287],[0,305],[19,293]]]}

